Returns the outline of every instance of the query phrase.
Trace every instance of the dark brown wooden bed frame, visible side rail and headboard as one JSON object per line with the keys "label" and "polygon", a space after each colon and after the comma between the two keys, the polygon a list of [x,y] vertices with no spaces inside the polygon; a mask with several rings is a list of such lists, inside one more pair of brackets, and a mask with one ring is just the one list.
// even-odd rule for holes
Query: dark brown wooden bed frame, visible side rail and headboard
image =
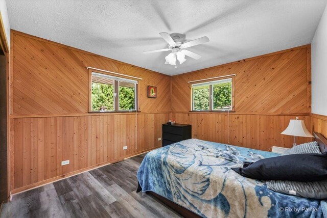
{"label": "dark brown wooden bed frame, visible side rail and headboard", "polygon": [[[319,148],[321,153],[327,151],[327,139],[324,138],[320,133],[318,132],[314,132],[313,133],[315,141],[318,142]],[[141,191],[141,187],[138,185],[137,191]],[[177,213],[179,213],[181,216],[183,217],[201,217],[198,214],[192,212],[191,210],[186,209],[185,207],[182,207],[174,202],[172,202],[171,200],[164,198],[162,196],[159,196],[157,194],[155,194],[154,192],[146,192],[149,195],[154,196],[155,198],[157,198],[159,201],[161,201],[162,203],[166,204],[167,206],[169,206],[170,208],[172,208],[173,210],[175,210]]]}

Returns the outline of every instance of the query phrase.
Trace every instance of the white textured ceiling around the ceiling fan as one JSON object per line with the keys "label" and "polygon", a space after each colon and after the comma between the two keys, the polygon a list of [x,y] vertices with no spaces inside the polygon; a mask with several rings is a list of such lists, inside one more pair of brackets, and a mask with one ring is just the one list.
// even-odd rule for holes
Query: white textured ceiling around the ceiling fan
{"label": "white textured ceiling around the ceiling fan", "polygon": [[[326,1],[9,1],[12,29],[175,75],[312,41]],[[160,32],[210,41],[176,69]]]}

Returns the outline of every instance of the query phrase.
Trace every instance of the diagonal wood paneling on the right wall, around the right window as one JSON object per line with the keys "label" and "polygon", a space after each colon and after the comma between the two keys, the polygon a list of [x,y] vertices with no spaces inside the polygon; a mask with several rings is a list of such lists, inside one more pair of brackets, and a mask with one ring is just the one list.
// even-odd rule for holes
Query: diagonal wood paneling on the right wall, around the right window
{"label": "diagonal wood paneling on the right wall, around the right window", "polygon": [[251,114],[305,114],[310,46],[301,46],[236,63],[172,77],[172,112],[191,109],[188,81],[237,74],[235,111]]}

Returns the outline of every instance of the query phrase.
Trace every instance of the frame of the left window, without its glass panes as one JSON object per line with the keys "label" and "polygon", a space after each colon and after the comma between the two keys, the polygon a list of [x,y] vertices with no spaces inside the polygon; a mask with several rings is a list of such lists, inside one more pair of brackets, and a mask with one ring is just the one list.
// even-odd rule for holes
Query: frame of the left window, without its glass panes
{"label": "frame of the left window, without its glass panes", "polygon": [[[99,73],[103,75],[108,75],[112,76],[115,78],[122,78],[122,79],[128,79],[128,80],[134,80],[137,81],[137,83],[134,84],[134,110],[119,110],[119,79],[113,79],[113,111],[92,111],[92,73]],[[88,90],[88,113],[130,113],[130,112],[139,112],[138,110],[138,79],[130,79],[130,78],[125,78],[123,76],[116,76],[114,74],[110,74],[107,72],[102,72],[102,71],[97,71],[94,69],[88,69],[88,85],[89,85],[89,90]],[[116,93],[116,95],[115,95]]]}

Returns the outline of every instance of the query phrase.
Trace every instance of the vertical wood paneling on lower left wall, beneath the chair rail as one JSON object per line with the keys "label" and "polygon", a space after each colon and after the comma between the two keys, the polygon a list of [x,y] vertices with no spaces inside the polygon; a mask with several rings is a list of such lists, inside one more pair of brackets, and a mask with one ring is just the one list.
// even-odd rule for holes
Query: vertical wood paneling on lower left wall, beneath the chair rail
{"label": "vertical wood paneling on lower left wall, beneath the chair rail", "polygon": [[[14,192],[161,146],[166,114],[14,119]],[[123,150],[128,146],[127,150]],[[61,161],[70,163],[61,166]]]}

